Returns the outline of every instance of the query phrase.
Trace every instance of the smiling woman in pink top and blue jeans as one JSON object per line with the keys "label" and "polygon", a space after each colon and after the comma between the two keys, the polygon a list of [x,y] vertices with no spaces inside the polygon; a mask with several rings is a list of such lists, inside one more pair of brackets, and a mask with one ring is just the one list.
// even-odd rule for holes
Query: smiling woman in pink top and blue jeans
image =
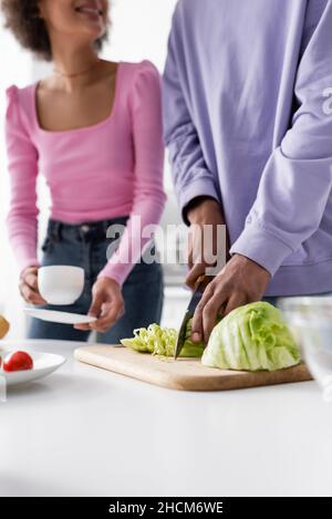
{"label": "smiling woman in pink top and blue jeans", "polygon": [[[63,310],[97,318],[74,328],[33,320],[29,336],[87,340],[95,330],[97,340],[117,343],[162,312],[162,268],[141,261],[151,241],[135,231],[138,217],[142,228],[157,224],[165,204],[159,75],[147,61],[98,58],[107,0],[4,0],[2,9],[21,44],[53,62],[50,77],[8,90],[8,228],[20,291],[29,303],[45,303],[37,259],[41,170],[52,200],[42,264],[83,267],[84,292]],[[106,229],[121,224],[124,233],[107,261]]]}

